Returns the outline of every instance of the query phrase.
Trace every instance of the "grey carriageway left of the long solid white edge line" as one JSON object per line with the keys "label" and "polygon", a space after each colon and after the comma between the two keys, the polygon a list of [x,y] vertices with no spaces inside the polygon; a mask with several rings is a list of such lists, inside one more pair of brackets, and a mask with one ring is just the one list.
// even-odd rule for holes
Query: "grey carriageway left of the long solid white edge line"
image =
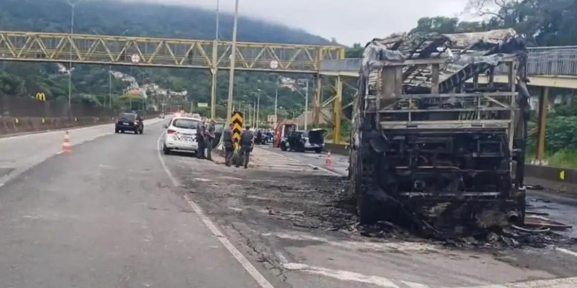
{"label": "grey carriageway left of the long solid white edge line", "polygon": [[[1,287],[258,287],[175,193],[158,158],[161,124],[148,124],[144,135],[71,132],[73,142],[94,140],[0,187]],[[16,156],[61,137],[0,146],[10,143],[23,167],[32,156]]]}

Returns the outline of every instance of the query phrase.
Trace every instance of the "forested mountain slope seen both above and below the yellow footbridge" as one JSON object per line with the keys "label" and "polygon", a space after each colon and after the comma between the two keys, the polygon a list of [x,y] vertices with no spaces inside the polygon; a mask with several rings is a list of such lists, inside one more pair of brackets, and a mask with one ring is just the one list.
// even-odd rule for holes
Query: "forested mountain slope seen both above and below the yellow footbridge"
{"label": "forested mountain slope seen both above and below the yellow footbridge", "polygon": [[[66,0],[2,0],[0,1],[0,30],[33,32],[70,32],[71,7]],[[220,39],[232,37],[233,16],[220,14]],[[175,37],[186,39],[213,39],[215,12],[188,6],[161,5],[144,2],[85,0],[75,10],[75,33]],[[331,41],[311,35],[301,29],[240,17],[238,40],[272,43],[329,44]],[[85,101],[94,105],[107,103],[108,66],[74,65],[73,102]],[[50,100],[68,98],[68,75],[48,63],[0,63],[0,93],[32,97],[43,91]],[[208,102],[210,76],[208,70],[130,68],[113,66],[113,70],[132,75],[141,85],[153,82],[165,89],[188,90],[188,100]],[[226,101],[227,72],[218,78],[217,98]],[[240,101],[256,101],[257,89],[269,94],[276,89],[280,75],[238,71],[235,77],[235,94]],[[113,93],[120,96],[126,83],[113,79]],[[293,112],[302,110],[304,101],[287,89],[280,93],[279,105]],[[295,104],[295,102],[297,104]],[[303,103],[301,103],[303,102]],[[272,105],[273,99],[261,98],[261,105]],[[218,109],[224,113],[224,109]],[[224,115],[221,115],[224,116]]]}

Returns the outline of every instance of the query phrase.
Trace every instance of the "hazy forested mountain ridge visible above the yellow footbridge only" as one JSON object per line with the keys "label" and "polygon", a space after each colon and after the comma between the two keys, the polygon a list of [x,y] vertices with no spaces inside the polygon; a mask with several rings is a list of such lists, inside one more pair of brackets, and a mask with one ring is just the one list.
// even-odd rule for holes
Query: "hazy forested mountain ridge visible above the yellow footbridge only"
{"label": "hazy forested mountain ridge visible above the yellow footbridge only", "polygon": [[[70,5],[66,0],[2,0],[0,29],[70,32]],[[75,10],[77,33],[214,39],[215,12],[188,6],[145,2],[86,0]],[[220,14],[220,38],[232,39],[233,15]],[[238,40],[294,44],[329,44],[301,29],[239,17]]]}

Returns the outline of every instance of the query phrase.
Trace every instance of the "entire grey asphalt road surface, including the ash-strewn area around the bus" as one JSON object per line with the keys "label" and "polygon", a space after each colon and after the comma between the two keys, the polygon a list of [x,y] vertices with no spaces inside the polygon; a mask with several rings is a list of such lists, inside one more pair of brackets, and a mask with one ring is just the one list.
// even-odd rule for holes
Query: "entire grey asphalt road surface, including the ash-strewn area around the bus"
{"label": "entire grey asphalt road surface, including the ash-strewn area around the bus", "polygon": [[[577,287],[574,245],[364,237],[329,219],[354,222],[332,202],[346,157],[257,147],[228,168],[160,154],[153,122],[71,130],[65,154],[62,132],[0,139],[0,287]],[[571,218],[574,202],[542,197]]]}

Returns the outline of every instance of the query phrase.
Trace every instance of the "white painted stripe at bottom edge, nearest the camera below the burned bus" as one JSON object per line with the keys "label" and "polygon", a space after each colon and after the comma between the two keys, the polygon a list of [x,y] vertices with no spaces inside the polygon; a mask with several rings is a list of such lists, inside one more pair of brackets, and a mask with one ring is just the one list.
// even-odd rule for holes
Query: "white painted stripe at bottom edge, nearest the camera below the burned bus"
{"label": "white painted stripe at bottom edge, nearest the camera below the burned bus", "polygon": [[332,270],[328,268],[308,266],[307,264],[299,264],[299,263],[285,263],[283,264],[283,267],[288,270],[304,271],[310,274],[329,276],[343,281],[362,282],[385,288],[399,288],[399,286],[397,286],[391,280],[381,276],[363,275],[357,272]]}

